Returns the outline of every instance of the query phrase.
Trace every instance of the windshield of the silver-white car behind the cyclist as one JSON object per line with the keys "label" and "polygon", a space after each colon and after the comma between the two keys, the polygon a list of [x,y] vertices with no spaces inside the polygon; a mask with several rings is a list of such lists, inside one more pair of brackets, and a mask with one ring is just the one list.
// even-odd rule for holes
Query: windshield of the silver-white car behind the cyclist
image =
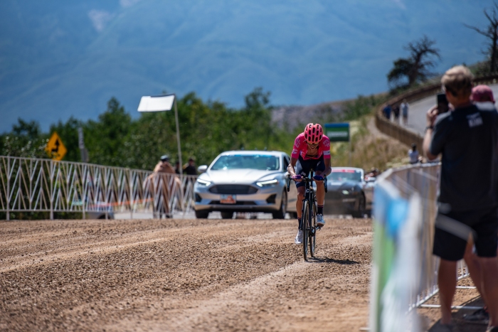
{"label": "windshield of the silver-white car behind the cyclist", "polygon": [[211,167],[211,171],[238,168],[278,171],[280,161],[277,156],[265,154],[231,154],[218,158],[216,163]]}

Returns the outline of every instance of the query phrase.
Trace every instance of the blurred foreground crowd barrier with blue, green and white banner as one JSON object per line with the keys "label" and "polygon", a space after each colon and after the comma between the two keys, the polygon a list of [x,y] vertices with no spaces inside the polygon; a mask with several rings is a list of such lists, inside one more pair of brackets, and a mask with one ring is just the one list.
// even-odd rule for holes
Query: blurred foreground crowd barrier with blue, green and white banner
{"label": "blurred foreground crowd barrier with blue, green and white banner", "polygon": [[[439,173],[439,164],[419,164],[378,178],[370,331],[419,331],[413,309],[438,292],[439,261],[432,248]],[[458,267],[458,279],[468,277],[464,261]]]}

